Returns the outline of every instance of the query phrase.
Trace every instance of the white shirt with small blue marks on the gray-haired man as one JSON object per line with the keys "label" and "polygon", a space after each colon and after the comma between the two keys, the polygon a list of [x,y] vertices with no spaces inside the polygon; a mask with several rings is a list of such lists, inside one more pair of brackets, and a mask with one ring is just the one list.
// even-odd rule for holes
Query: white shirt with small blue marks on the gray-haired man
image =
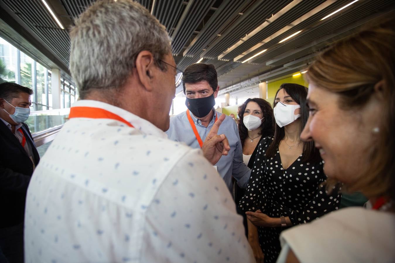
{"label": "white shirt with small blue marks on the gray-haired man", "polygon": [[254,262],[242,218],[201,150],[126,119],[71,118],[37,166],[25,262]]}

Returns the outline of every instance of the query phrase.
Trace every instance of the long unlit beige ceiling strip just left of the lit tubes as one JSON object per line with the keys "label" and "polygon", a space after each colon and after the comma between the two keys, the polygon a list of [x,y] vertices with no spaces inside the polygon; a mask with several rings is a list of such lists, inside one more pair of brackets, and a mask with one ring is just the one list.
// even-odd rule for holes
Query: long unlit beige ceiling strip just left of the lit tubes
{"label": "long unlit beige ceiling strip just left of the lit tubes", "polygon": [[321,10],[325,9],[326,7],[330,6],[331,4],[335,3],[337,0],[327,0],[324,3],[320,4],[319,6],[317,6],[316,8],[310,10],[309,12],[305,13],[305,15],[299,17],[298,19],[296,19],[295,21],[291,22],[290,24],[288,24],[287,26],[284,26],[283,28],[281,28],[280,30],[278,30],[276,33],[270,35],[269,37],[263,39],[262,41],[260,41],[258,44],[254,45],[254,47],[246,50],[245,52],[243,52],[242,54],[240,54],[239,56],[233,58],[233,62],[236,62],[238,60],[240,60],[241,58],[243,58],[245,55],[253,52],[254,50],[256,50],[257,48],[265,45],[267,42],[275,39],[276,37],[278,37],[281,34],[284,34],[285,32],[287,32],[288,30],[290,30],[291,28],[293,28],[294,26],[300,24],[301,22],[305,21],[306,19],[308,19],[309,17],[311,17],[312,15],[315,15],[316,13],[320,12]]}

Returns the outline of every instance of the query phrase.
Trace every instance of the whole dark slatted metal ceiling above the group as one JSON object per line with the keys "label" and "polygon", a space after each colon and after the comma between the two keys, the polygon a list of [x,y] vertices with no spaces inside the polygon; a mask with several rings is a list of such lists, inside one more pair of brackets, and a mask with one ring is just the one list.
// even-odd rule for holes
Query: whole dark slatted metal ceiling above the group
{"label": "whole dark slatted metal ceiling above the group", "polygon": [[[18,47],[36,48],[51,63],[68,73],[68,28],[73,19],[95,1],[46,2],[65,29],[56,24],[41,0],[1,0],[0,35]],[[269,80],[272,72],[303,69],[314,60],[316,52],[331,42],[353,34],[377,17],[391,15],[388,12],[395,9],[393,0],[137,2],[166,26],[177,67],[185,69],[200,59],[202,63],[213,63],[223,92],[235,90],[235,84],[240,88],[241,83],[256,76],[260,81]],[[280,42],[292,34],[295,35]],[[30,45],[21,43],[21,39]],[[275,76],[278,74],[272,77]],[[181,90],[181,87],[177,88],[177,92]]]}

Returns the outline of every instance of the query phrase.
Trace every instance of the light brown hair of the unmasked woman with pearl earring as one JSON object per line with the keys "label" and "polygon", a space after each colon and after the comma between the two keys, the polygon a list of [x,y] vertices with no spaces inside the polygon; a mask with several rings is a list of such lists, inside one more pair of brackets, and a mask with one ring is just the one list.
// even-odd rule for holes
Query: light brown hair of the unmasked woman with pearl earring
{"label": "light brown hair of the unmasked woman with pearl earring", "polygon": [[372,145],[369,169],[347,187],[368,197],[389,196],[395,200],[395,19],[335,43],[318,55],[306,77],[339,94],[339,106],[346,110],[365,106],[374,86],[384,81],[380,133]]}

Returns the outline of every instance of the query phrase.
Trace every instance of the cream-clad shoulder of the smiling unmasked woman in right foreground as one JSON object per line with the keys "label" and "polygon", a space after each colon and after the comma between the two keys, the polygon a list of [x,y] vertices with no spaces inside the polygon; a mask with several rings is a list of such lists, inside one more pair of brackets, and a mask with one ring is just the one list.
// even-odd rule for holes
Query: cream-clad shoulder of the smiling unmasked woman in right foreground
{"label": "cream-clad shoulder of the smiling unmasked woman in right foreground", "polygon": [[395,262],[395,214],[344,208],[283,231],[280,241],[301,262]]}

